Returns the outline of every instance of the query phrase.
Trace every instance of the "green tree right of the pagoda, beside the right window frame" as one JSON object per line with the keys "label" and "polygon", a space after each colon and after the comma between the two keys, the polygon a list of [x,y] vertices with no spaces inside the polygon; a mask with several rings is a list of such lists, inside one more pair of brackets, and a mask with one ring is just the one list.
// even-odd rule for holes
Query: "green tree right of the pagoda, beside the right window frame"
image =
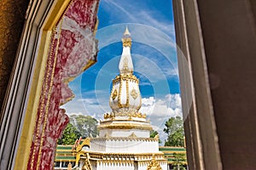
{"label": "green tree right of the pagoda, beside the right window frame", "polygon": [[168,135],[165,146],[184,146],[183,119],[171,117],[165,125],[164,132]]}

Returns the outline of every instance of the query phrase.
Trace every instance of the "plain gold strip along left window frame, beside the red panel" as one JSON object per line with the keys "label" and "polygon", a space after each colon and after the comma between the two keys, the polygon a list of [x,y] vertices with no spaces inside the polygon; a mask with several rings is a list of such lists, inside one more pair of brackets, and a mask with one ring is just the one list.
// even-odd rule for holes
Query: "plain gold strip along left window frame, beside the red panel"
{"label": "plain gold strip along left window frame, beside the red panel", "polygon": [[[71,0],[56,0],[49,11],[46,24],[43,26],[42,37],[38,48],[38,56],[36,61],[36,69],[34,76],[32,77],[32,88],[29,94],[28,105],[26,108],[26,116],[24,119],[19,148],[15,158],[15,169],[26,169],[29,161],[30,152],[32,145],[32,137],[34,133],[34,127],[36,125],[38,104],[44,80],[45,68],[47,65],[47,57],[49,51],[49,45],[51,40],[51,34],[54,30],[54,26],[60,20],[61,15]],[[32,6],[35,5],[32,3]]]}

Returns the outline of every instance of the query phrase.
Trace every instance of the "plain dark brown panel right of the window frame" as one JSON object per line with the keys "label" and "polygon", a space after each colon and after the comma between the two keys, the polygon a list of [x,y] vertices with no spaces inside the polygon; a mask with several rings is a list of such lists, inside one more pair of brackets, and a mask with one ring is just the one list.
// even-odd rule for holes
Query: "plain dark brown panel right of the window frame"
{"label": "plain dark brown panel right of the window frame", "polygon": [[256,3],[198,0],[224,169],[256,168]]}

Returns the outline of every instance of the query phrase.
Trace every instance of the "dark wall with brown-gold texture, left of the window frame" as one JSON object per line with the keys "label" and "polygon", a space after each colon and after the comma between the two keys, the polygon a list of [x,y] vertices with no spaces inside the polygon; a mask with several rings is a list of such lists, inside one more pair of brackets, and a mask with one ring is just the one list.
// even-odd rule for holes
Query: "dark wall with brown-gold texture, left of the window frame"
{"label": "dark wall with brown-gold texture, left of the window frame", "polygon": [[[15,54],[25,22],[29,0],[1,0],[0,2],[0,108],[15,62]],[[2,114],[0,113],[0,122]]]}

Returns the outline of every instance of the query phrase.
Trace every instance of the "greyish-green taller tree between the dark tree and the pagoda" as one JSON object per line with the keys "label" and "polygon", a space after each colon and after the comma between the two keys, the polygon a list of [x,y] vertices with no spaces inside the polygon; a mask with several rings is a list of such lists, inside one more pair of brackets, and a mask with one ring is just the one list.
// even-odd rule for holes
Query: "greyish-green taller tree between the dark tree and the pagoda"
{"label": "greyish-green taller tree between the dark tree and the pagoda", "polygon": [[85,115],[73,115],[69,117],[70,122],[76,127],[81,133],[83,139],[87,137],[96,137],[97,132],[97,121],[92,116]]}

